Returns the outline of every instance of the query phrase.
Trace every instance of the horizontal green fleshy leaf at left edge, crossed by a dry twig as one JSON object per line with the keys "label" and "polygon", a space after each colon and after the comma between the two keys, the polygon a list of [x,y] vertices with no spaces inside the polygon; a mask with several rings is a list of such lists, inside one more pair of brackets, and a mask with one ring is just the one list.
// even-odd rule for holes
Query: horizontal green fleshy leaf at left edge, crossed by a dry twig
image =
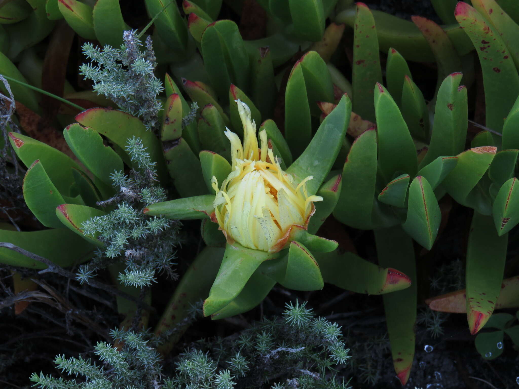
{"label": "horizontal green fleshy leaf at left edge, crossed by a dry twig", "polygon": [[[95,246],[67,228],[19,232],[0,229],[0,242],[9,242],[31,253],[49,259],[61,267],[78,265],[91,258]],[[31,269],[47,265],[8,248],[0,248],[0,263]]]}

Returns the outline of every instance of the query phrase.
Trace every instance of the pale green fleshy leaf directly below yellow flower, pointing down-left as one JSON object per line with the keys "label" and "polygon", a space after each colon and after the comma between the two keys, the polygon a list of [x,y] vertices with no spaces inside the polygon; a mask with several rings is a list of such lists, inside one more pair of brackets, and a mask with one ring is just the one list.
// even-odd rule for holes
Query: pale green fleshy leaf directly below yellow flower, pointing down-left
{"label": "pale green fleshy leaf directly below yellow flower, pointing down-left", "polygon": [[203,315],[212,315],[233,301],[258,266],[277,255],[246,248],[238,243],[227,243],[220,270],[211,286],[209,297],[203,302]]}

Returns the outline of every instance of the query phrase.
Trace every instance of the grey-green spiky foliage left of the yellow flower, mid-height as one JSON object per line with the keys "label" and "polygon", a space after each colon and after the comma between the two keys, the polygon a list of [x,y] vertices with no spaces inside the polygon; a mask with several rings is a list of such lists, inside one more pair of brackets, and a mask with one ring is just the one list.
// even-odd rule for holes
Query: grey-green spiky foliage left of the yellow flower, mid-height
{"label": "grey-green spiky foliage left of the yellow flower, mid-height", "polygon": [[175,246],[180,243],[177,236],[180,223],[143,215],[144,206],[166,200],[166,191],[156,185],[155,162],[151,162],[141,140],[129,139],[126,150],[136,168],[129,175],[115,171],[112,179],[119,192],[99,203],[103,206],[117,203],[116,208],[83,223],[85,235],[96,236],[105,247],[79,268],[77,280],[81,283],[88,282],[99,269],[120,256],[124,256],[126,270],[119,274],[119,281],[125,285],[149,286],[155,281],[156,271],[176,277],[172,266]]}

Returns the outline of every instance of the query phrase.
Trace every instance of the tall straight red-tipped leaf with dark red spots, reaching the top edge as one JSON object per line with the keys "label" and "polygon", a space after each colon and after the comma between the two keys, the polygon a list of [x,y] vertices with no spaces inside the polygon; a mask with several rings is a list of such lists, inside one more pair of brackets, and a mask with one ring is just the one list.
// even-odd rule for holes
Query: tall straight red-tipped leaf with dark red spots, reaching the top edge
{"label": "tall straight red-tipped leaf with dark red spots, reaching the top edge", "polygon": [[373,95],[377,82],[382,83],[382,70],[375,20],[364,3],[357,3],[354,31],[352,109],[364,119],[375,121]]}

